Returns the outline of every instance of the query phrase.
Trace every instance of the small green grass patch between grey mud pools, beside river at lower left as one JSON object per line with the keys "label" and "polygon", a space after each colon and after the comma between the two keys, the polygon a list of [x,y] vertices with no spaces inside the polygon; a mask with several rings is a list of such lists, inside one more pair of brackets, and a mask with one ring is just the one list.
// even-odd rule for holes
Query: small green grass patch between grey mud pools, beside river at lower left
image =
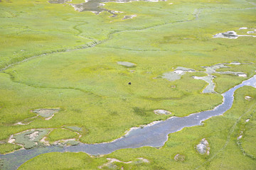
{"label": "small green grass patch between grey mud pools, beside river at lower left", "polygon": [[55,129],[47,137],[49,142],[55,142],[57,140],[67,140],[78,137],[78,134],[70,130]]}

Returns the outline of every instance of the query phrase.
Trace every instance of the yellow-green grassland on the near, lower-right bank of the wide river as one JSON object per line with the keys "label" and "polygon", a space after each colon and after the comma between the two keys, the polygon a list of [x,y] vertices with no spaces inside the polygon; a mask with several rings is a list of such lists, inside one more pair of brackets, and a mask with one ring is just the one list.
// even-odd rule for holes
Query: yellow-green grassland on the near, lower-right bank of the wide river
{"label": "yellow-green grassland on the near, lower-right bank of the wide river", "polygon": [[[137,149],[122,149],[105,157],[97,158],[97,162],[93,162],[91,166],[95,165],[92,169],[97,169],[97,166],[102,166],[106,158],[115,158],[122,162],[134,161],[138,157],[148,159],[149,163],[141,164],[124,164],[122,162],[113,162],[112,164],[116,169],[255,169],[255,159],[245,156],[237,145],[237,137],[240,133],[240,125],[244,124],[247,118],[255,118],[255,100],[246,101],[245,96],[250,94],[256,98],[256,90],[252,87],[242,87],[235,93],[234,106],[230,111],[223,116],[218,116],[206,120],[201,126],[185,128],[179,132],[169,135],[169,140],[164,147],[159,149],[153,147],[142,147]],[[250,124],[248,124],[250,125]],[[247,129],[248,128],[248,129]],[[247,127],[246,130],[250,130]],[[245,130],[245,140],[246,139]],[[250,136],[255,136],[255,130],[251,130]],[[210,154],[201,155],[196,151],[196,145],[203,138],[209,142]],[[249,141],[248,141],[249,142]],[[253,142],[250,142],[251,152],[254,152]],[[176,154],[183,156],[183,161],[176,161],[174,157]],[[252,154],[252,153],[250,153]],[[29,169],[31,167],[48,166],[41,160],[51,160],[53,162],[62,161],[67,153],[50,153],[43,154],[35,157],[21,166],[21,169]],[[86,154],[78,153],[74,157],[86,157]],[[61,157],[60,157],[61,156]],[[55,157],[55,159],[50,159]],[[80,160],[78,159],[78,160]],[[67,157],[67,161],[71,162],[72,157]],[[95,160],[95,159],[94,159]],[[80,162],[80,161],[79,161]],[[83,164],[88,160],[82,161]],[[77,162],[70,163],[76,169],[83,169],[83,164],[77,165]],[[68,167],[70,167],[69,165]],[[63,166],[61,166],[63,167]],[[113,166],[112,166],[113,167]],[[107,166],[102,169],[110,169]]]}

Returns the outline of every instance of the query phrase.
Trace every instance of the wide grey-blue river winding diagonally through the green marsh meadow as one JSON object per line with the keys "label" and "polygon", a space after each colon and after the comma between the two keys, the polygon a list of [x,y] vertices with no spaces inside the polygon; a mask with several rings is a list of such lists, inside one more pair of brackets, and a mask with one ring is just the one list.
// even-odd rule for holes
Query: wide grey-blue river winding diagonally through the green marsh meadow
{"label": "wide grey-blue river winding diagonally through the green marsh meadow", "polygon": [[186,127],[201,125],[203,120],[213,116],[223,115],[233,105],[234,92],[242,86],[253,86],[256,88],[256,75],[241,84],[226,91],[223,96],[223,103],[216,106],[211,111],[193,113],[186,117],[172,117],[164,121],[158,121],[146,125],[144,128],[132,128],[127,135],[109,143],[99,143],[87,145],[80,143],[76,146],[59,147],[48,146],[34,149],[21,149],[10,154],[0,154],[0,159],[4,161],[4,169],[17,169],[24,162],[49,152],[85,152],[90,155],[110,154],[118,149],[138,148],[138,147],[162,147],[168,140],[168,135]]}

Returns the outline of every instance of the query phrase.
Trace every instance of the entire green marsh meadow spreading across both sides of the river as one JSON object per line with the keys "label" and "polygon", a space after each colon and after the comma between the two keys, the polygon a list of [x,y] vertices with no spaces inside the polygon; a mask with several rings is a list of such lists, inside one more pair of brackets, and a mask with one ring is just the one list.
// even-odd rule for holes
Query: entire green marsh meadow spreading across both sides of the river
{"label": "entire green marsh meadow spreading across both sides of the river", "polygon": [[[122,11],[116,17],[69,5],[83,2],[0,1],[0,154],[28,145],[21,133],[26,130],[46,130],[42,137],[50,145],[68,139],[111,142],[133,127],[211,110],[223,102],[221,94],[255,75],[256,37],[213,38],[229,30],[255,36],[255,0],[108,2],[101,7]],[[203,94],[208,83],[193,76],[206,77],[203,67],[215,64],[228,67],[213,73],[215,93]],[[177,67],[196,72],[176,81],[162,77]],[[227,71],[247,77],[218,74]],[[119,149],[102,157],[53,152],[18,169],[255,169],[255,98],[251,86],[238,89],[224,115],[169,134],[161,148]],[[60,111],[44,118],[33,112],[40,108]],[[156,115],[158,109],[171,115]],[[21,141],[10,141],[11,135]],[[209,155],[196,150],[203,138]],[[175,160],[177,154],[182,159]]]}

